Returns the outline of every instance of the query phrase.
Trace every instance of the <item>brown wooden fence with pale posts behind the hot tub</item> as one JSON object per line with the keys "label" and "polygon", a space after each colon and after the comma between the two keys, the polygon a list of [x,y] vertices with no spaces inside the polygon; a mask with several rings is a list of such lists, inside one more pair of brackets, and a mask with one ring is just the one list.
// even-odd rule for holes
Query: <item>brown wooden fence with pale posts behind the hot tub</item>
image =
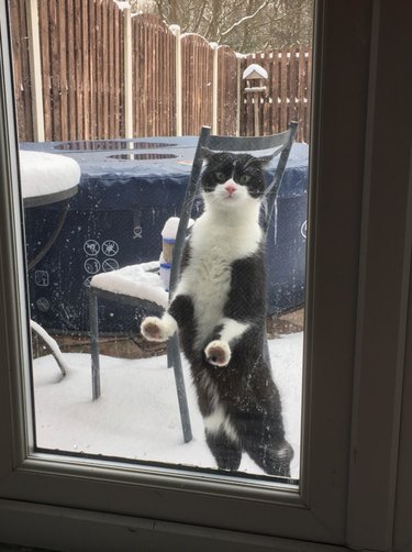
{"label": "brown wooden fence with pale posts behind the hot tub", "polygon": [[[21,141],[269,134],[309,140],[311,52],[242,56],[112,0],[10,0]],[[268,73],[245,92],[245,68]],[[257,109],[256,109],[257,106]]]}

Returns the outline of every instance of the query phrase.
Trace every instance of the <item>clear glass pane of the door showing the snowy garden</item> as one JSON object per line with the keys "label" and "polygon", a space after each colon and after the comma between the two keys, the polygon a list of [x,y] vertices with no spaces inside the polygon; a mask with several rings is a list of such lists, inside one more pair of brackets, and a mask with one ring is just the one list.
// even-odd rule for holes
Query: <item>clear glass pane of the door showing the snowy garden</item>
{"label": "clear glass pane of the door showing the snowy garden", "polygon": [[35,449],[298,483],[312,1],[130,4],[9,2]]}

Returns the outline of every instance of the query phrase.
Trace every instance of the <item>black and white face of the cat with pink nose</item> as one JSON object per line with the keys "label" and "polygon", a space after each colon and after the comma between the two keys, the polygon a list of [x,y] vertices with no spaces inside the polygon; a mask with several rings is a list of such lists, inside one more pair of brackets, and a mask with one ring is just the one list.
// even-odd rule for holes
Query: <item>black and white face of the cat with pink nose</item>
{"label": "black and white face of the cat with pink nose", "polygon": [[261,162],[248,154],[205,152],[207,166],[202,175],[205,198],[233,208],[258,202],[265,191]]}

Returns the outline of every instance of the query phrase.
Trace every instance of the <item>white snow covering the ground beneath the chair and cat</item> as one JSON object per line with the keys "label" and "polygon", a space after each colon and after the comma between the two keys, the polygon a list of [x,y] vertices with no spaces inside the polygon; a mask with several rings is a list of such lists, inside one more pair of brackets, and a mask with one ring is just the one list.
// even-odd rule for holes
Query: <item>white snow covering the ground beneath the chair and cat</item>
{"label": "white snow covering the ground beneath the chair and cat", "polygon": [[[291,476],[299,478],[303,333],[269,341],[287,439],[294,449]],[[186,386],[193,440],[183,443],[172,369],[165,356],[141,360],[101,356],[101,397],[91,400],[90,355],[64,355],[68,374],[53,356],[36,358],[34,397],[37,446],[189,466],[215,467],[205,444],[187,365]],[[241,471],[263,472],[245,454]]]}

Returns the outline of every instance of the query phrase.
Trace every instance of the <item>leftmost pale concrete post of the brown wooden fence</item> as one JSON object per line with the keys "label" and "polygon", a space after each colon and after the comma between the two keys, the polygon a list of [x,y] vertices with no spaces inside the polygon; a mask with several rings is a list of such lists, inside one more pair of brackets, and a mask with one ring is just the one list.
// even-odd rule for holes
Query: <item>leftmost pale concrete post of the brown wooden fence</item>
{"label": "leftmost pale concrete post of the brown wooden fence", "polygon": [[32,85],[33,137],[35,142],[44,142],[43,78],[37,0],[27,0],[25,7],[29,31],[30,81]]}

